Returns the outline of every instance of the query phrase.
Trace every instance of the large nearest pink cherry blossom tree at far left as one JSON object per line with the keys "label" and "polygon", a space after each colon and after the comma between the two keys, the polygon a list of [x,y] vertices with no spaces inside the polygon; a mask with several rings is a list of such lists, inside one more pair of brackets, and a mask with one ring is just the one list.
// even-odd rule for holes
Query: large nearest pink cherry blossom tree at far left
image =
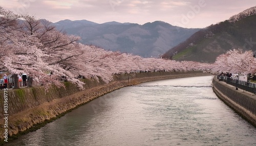
{"label": "large nearest pink cherry blossom tree at far left", "polygon": [[[61,58],[61,55],[65,54],[65,51],[67,53],[67,50],[69,53],[72,52],[71,48],[76,46],[73,44],[77,40],[76,37],[61,34],[56,29],[43,25],[34,17],[20,16],[19,18],[23,20],[17,20],[16,15],[1,10],[1,20],[15,24],[1,23],[1,28],[8,30],[1,32],[6,36],[6,39],[1,40],[1,52],[5,52],[2,57],[4,60],[2,70],[7,70],[14,75],[19,72],[26,73],[29,77],[36,77],[46,85],[54,83],[60,86],[62,84],[57,77],[68,76],[70,81],[82,88],[82,82],[76,80],[70,71],[60,65],[63,60],[69,58],[67,56]],[[5,51],[6,48],[7,51]],[[70,55],[69,53],[67,54]],[[47,62],[48,60],[51,62]],[[54,75],[48,76],[47,71],[53,71]],[[16,79],[15,76],[14,79]]]}

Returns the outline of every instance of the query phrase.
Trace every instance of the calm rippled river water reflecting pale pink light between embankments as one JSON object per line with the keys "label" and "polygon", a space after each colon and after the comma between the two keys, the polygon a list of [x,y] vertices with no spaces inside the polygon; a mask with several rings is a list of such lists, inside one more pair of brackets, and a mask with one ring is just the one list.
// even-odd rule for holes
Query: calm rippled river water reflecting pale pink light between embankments
{"label": "calm rippled river water reflecting pale pink light between embankments", "polygon": [[124,87],[7,145],[256,146],[256,128],[217,98],[212,78]]}

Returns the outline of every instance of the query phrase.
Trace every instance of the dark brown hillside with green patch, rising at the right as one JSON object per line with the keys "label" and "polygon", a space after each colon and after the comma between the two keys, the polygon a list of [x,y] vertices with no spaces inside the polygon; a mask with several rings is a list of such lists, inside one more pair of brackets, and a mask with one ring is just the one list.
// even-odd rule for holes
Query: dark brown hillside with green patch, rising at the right
{"label": "dark brown hillside with green patch, rising at the right", "polygon": [[178,61],[215,62],[226,51],[256,51],[256,7],[211,25],[171,48],[162,57]]}

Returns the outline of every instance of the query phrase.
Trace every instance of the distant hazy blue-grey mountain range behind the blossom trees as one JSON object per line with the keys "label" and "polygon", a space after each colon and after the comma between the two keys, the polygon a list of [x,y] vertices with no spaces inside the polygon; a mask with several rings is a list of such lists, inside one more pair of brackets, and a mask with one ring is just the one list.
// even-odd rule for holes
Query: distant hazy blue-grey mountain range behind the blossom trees
{"label": "distant hazy blue-grey mountain range behind the blossom trees", "polygon": [[80,36],[83,44],[155,58],[200,30],[176,27],[163,21],[138,25],[116,21],[98,24],[88,20],[61,20],[53,25],[70,35]]}

